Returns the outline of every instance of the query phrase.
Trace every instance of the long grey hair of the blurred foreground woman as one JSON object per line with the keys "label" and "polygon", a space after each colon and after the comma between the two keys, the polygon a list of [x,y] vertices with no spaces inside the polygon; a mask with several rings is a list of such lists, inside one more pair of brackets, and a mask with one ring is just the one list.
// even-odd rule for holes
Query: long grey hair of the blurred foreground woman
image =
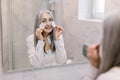
{"label": "long grey hair of the blurred foreground woman", "polygon": [[102,42],[102,60],[97,77],[112,67],[120,66],[120,11],[104,20]]}

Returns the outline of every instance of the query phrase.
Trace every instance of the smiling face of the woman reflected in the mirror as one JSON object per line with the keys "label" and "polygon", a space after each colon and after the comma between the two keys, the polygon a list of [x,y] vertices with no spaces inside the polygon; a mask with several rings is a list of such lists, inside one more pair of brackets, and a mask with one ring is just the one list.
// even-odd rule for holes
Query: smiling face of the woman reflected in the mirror
{"label": "smiling face of the woman reflected in the mirror", "polygon": [[45,28],[43,29],[44,32],[50,33],[52,31],[52,29],[53,29],[52,21],[53,21],[53,18],[50,14],[42,13],[41,23],[45,24]]}

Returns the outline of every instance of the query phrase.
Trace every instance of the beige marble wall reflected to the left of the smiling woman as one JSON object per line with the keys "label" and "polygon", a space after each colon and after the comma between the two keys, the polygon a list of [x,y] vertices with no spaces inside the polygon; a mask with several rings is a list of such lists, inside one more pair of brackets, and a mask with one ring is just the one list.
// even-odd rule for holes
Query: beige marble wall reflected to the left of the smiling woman
{"label": "beige marble wall reflected to the left of the smiling woman", "polygon": [[31,67],[27,57],[26,38],[34,31],[36,14],[42,8],[47,9],[48,2],[49,0],[1,1],[5,69]]}

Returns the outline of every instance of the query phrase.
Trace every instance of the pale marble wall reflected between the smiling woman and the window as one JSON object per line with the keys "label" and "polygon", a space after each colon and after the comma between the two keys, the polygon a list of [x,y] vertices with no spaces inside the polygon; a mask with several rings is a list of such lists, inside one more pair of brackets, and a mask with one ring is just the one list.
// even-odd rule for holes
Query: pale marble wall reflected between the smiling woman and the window
{"label": "pale marble wall reflected between the smiling woman and the window", "polygon": [[83,43],[99,43],[102,34],[101,21],[97,20],[79,20],[78,19],[78,0],[63,1],[64,17],[64,40],[68,58],[74,62],[84,62],[82,56]]}

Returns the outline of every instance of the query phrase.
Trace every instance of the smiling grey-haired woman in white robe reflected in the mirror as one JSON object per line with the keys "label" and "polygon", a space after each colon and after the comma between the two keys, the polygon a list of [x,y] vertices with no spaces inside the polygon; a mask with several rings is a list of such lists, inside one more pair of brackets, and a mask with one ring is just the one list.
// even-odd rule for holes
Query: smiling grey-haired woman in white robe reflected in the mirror
{"label": "smiling grey-haired woman in white robe reflected in the mirror", "polygon": [[63,28],[55,25],[50,11],[41,11],[35,20],[34,34],[27,41],[28,56],[33,66],[52,66],[66,62]]}

